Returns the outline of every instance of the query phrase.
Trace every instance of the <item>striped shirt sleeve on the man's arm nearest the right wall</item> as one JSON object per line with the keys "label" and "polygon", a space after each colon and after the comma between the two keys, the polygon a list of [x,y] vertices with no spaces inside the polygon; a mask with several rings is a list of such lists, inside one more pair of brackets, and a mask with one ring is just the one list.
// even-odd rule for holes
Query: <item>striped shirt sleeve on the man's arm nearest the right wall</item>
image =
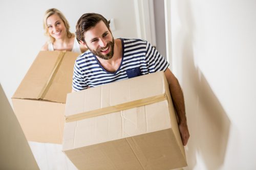
{"label": "striped shirt sleeve on the man's arm nearest the right wall", "polygon": [[165,58],[149,42],[146,43],[145,59],[150,73],[165,71],[169,66]]}

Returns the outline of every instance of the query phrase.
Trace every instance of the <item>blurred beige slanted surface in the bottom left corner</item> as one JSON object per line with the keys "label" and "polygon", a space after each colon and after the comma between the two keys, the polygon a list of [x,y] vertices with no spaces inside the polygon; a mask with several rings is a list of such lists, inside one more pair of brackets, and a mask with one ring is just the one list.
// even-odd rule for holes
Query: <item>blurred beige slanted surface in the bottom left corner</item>
{"label": "blurred beige slanted surface in the bottom left corner", "polygon": [[39,169],[0,84],[0,169]]}

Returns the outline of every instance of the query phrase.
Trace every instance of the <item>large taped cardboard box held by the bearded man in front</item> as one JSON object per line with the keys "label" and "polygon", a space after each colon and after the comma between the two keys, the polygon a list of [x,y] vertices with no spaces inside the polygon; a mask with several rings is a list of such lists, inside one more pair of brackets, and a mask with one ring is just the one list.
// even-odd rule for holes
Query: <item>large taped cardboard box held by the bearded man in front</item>
{"label": "large taped cardboard box held by the bearded man in front", "polygon": [[78,169],[186,166],[163,71],[69,93],[63,152]]}

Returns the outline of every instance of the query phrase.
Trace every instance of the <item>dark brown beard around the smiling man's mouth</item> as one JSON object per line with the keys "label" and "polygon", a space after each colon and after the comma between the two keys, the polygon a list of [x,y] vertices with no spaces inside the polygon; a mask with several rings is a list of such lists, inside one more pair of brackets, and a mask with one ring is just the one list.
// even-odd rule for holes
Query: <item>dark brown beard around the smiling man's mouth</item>
{"label": "dark brown beard around the smiling man's mouth", "polygon": [[[89,50],[92,52],[92,54],[94,54],[95,56],[98,56],[99,58],[101,59],[104,59],[104,60],[109,60],[109,59],[112,59],[112,57],[114,56],[114,46],[115,46],[115,40],[114,40],[114,37],[112,38],[112,42],[111,41],[108,41],[106,43],[106,46],[105,47],[100,47],[98,48],[96,51],[95,50],[92,50],[91,48],[89,48]],[[105,48],[110,48],[110,52],[106,55],[102,55],[101,54],[101,50],[105,49]]]}

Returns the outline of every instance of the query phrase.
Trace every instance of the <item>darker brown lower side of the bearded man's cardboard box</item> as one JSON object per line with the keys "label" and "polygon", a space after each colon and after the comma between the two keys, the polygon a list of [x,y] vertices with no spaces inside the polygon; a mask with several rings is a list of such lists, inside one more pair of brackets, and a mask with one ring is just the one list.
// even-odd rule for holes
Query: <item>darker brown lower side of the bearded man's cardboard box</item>
{"label": "darker brown lower side of the bearded man's cardboard box", "polygon": [[173,131],[166,129],[65,151],[65,154],[78,169],[169,170],[187,165],[175,140]]}

